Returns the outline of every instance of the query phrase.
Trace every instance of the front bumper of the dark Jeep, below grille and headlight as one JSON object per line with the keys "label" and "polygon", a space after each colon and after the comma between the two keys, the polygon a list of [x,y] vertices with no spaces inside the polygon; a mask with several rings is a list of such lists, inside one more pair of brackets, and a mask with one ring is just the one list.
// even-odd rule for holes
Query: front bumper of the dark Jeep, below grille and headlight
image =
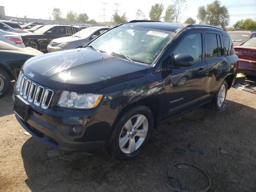
{"label": "front bumper of the dark Jeep, below grille and headlight", "polygon": [[[16,94],[14,89],[14,103]],[[52,148],[64,151],[94,152],[104,147],[112,129],[111,123],[104,121],[105,112],[102,113],[98,108],[72,110],[51,107],[44,110],[31,103],[27,121],[23,121],[17,114],[15,116],[27,132]],[[80,136],[70,136],[63,131],[63,126],[72,125],[84,128]]]}

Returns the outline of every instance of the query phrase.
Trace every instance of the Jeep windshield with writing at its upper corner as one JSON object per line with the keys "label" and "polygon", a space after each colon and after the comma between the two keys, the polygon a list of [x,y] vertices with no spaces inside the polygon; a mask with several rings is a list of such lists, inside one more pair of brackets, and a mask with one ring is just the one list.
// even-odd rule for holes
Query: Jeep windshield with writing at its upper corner
{"label": "Jeep windshield with writing at its upper corner", "polygon": [[151,65],[173,34],[153,28],[120,26],[102,34],[90,45],[102,52],[123,54],[134,61]]}

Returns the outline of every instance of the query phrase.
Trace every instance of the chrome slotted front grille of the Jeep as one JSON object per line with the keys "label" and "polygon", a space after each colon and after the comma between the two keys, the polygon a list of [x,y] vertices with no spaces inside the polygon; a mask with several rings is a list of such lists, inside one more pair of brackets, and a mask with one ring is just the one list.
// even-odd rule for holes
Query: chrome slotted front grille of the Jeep
{"label": "chrome slotted front grille of the Jeep", "polygon": [[21,72],[17,80],[16,90],[24,99],[27,99],[28,102],[34,103],[36,106],[41,105],[43,109],[47,109],[50,106],[54,94],[52,90],[47,88],[45,90],[43,86],[31,82]]}

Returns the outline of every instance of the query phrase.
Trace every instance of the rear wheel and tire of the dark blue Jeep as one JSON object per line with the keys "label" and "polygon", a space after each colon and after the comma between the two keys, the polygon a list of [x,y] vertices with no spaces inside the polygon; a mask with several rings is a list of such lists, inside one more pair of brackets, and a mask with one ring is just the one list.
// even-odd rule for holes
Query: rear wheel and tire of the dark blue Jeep
{"label": "rear wheel and tire of the dark blue Jeep", "polygon": [[[225,88],[225,90],[223,90],[224,88]],[[224,92],[225,92],[225,95],[223,95]],[[226,80],[224,80],[222,82],[220,88],[216,92],[212,102],[210,102],[210,103],[208,103],[206,105],[207,108],[212,109],[212,110],[220,110],[220,109],[222,109],[223,105],[224,105],[224,102],[225,102],[225,99],[226,99],[226,96],[227,96],[227,92],[228,92],[228,82]]]}

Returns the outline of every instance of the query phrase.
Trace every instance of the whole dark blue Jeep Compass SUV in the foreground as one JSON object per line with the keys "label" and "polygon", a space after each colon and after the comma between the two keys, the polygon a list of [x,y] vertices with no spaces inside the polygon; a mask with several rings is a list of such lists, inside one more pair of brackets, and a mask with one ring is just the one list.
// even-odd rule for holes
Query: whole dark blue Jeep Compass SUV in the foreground
{"label": "whole dark blue Jeep Compass SUV in the foreground", "polygon": [[221,28],[134,20],[84,48],[29,59],[14,112],[53,148],[130,158],[159,123],[205,104],[222,108],[237,67]]}

